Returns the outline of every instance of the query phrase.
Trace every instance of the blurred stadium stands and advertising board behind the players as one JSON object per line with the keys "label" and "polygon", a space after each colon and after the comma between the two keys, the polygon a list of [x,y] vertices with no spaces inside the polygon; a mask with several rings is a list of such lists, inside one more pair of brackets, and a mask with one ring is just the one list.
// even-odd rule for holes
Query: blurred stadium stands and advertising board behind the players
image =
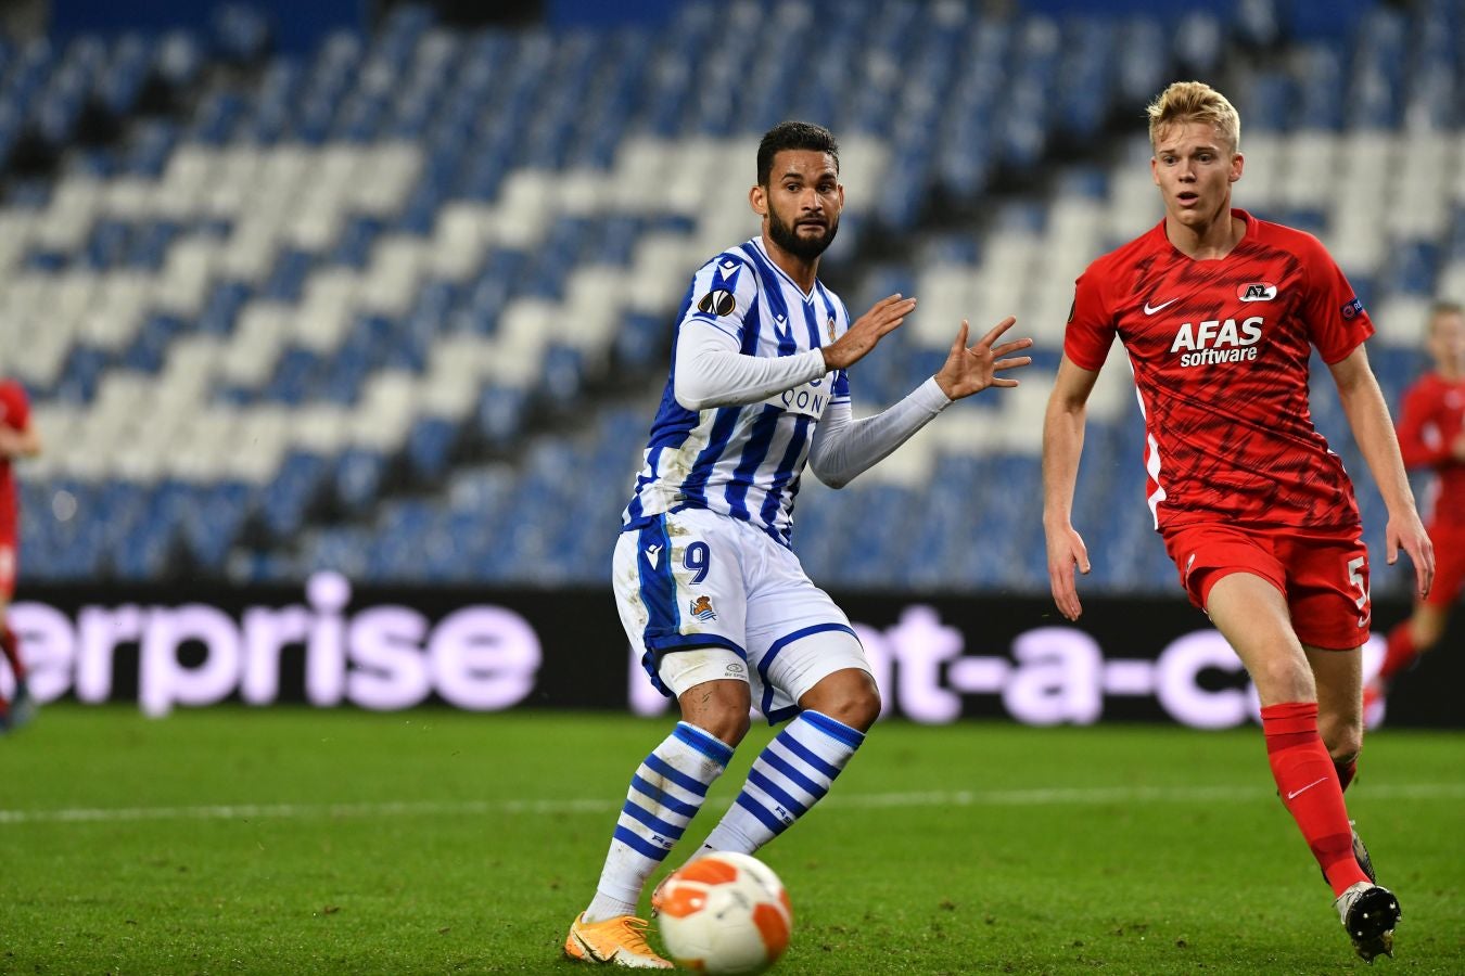
{"label": "blurred stadium stands and advertising board behind the players", "polygon": [[[491,7],[483,13],[479,7]],[[1159,219],[1143,107],[1234,98],[1236,203],[1317,233],[1379,326],[1386,397],[1465,297],[1465,3],[7,4],[0,372],[19,465],[13,622],[42,701],[650,710],[605,584],[687,275],[753,233],[756,138],[831,126],[826,281],[920,313],[851,375],[902,395],[955,325],[1037,341],[795,547],[921,721],[1245,720],[1242,676],[1149,528],[1112,361],[1074,521],[1088,613],[1046,597],[1039,435],[1071,282]],[[1406,612],[1360,486],[1376,625]],[[1446,644],[1462,642],[1456,623]],[[1377,650],[1377,648],[1374,648]],[[1390,723],[1459,724],[1434,680]]]}

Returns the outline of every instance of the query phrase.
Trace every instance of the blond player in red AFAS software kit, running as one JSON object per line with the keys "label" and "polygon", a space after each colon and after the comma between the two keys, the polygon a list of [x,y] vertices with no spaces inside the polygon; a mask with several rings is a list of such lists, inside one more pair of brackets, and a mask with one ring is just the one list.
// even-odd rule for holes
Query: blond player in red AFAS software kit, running
{"label": "blond player in red AFAS software kit, running", "polygon": [[1368,313],[1314,237],[1231,206],[1244,165],[1236,110],[1176,82],[1149,116],[1165,219],[1078,279],[1043,427],[1053,600],[1078,619],[1074,569],[1090,562],[1071,524],[1074,484],[1086,402],[1118,335],[1146,421],[1154,525],[1256,683],[1279,795],[1371,960],[1392,953],[1399,904],[1370,876],[1343,805],[1362,745],[1368,553],[1348,474],[1313,429],[1313,348],[1387,505],[1389,562],[1409,553],[1421,596],[1433,549],[1364,353]]}

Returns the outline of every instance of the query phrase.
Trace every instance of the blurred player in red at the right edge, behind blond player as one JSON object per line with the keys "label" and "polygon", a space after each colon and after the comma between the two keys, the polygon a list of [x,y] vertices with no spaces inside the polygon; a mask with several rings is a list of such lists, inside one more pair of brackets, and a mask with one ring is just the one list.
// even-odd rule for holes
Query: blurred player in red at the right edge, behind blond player
{"label": "blurred player in red at the right edge, behind blond player", "polygon": [[1412,616],[1389,631],[1383,667],[1364,692],[1365,711],[1383,699],[1399,672],[1439,644],[1450,606],[1465,590],[1465,309],[1436,304],[1425,347],[1434,372],[1403,395],[1399,449],[1408,467],[1434,470],[1430,538],[1439,566],[1430,594],[1415,600]]}

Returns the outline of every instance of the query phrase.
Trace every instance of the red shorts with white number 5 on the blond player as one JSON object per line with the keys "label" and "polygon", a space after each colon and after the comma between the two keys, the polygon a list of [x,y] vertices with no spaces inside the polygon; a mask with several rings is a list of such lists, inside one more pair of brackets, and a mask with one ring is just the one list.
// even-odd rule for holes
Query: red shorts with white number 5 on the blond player
{"label": "red shorts with white number 5 on the blond player", "polygon": [[1217,579],[1250,572],[1286,598],[1302,644],[1345,651],[1368,639],[1368,549],[1358,528],[1239,530],[1207,522],[1166,531],[1165,549],[1191,603],[1203,610]]}

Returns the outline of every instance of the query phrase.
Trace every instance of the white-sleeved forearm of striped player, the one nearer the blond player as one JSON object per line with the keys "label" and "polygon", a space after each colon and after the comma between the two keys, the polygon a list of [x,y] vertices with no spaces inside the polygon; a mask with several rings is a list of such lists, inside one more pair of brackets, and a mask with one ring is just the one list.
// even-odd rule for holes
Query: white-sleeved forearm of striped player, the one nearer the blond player
{"label": "white-sleeved forearm of striped player, the one nearer the blond player", "polygon": [[860,420],[850,418],[848,404],[831,404],[809,448],[809,467],[829,487],[844,487],[888,458],[949,405],[935,379],[927,379],[886,410]]}

